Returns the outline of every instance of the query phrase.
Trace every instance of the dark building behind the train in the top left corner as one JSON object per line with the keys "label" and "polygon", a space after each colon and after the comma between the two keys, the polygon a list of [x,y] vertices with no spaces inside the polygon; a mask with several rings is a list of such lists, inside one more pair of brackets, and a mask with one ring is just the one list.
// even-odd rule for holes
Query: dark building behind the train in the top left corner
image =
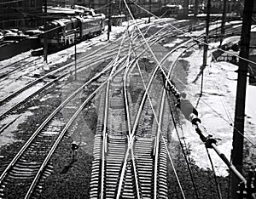
{"label": "dark building behind the train in the top left corner", "polygon": [[0,0],[0,29],[37,27],[43,23],[43,0]]}

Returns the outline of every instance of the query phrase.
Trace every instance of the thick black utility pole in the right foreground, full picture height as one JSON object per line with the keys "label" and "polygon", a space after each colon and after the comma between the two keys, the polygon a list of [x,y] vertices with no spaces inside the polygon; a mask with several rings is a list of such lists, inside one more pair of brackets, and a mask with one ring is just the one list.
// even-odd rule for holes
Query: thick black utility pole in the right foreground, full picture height
{"label": "thick black utility pole in the right foreground, full picture height", "polygon": [[[241,48],[238,68],[238,78],[236,87],[236,111],[233,131],[233,149],[231,160],[236,169],[242,173],[242,156],[243,156],[243,134],[244,134],[244,117],[245,117],[245,99],[247,90],[247,59],[249,57],[250,31],[253,16],[254,0],[244,1],[244,10],[241,26]],[[245,59],[245,60],[244,60]],[[234,174],[231,174],[231,198],[238,199],[236,194],[239,180]]]}

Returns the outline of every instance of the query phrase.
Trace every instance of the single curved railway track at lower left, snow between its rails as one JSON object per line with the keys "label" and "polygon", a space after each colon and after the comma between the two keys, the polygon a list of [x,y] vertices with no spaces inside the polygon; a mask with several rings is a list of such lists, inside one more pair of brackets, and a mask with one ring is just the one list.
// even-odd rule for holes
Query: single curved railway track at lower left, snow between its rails
{"label": "single curved railway track at lower left, snow between its rails", "polygon": [[[102,73],[108,70],[109,68],[106,68]],[[101,76],[102,73],[94,79]],[[26,195],[21,197],[29,198],[33,191],[36,191],[36,193],[38,191],[40,192],[41,186],[40,184],[38,185],[38,180],[40,178],[44,179],[51,173],[49,163],[50,156],[53,155],[55,148],[60,144],[61,139],[63,139],[65,134],[67,134],[67,129],[71,127],[75,117],[78,116],[79,112],[82,111],[84,106],[96,92],[100,90],[104,83],[87,97],[83,105],[79,107],[78,111],[74,111],[75,113],[73,114],[73,117],[67,122],[66,126],[65,122],[61,120],[60,111],[92,81],[93,79],[86,82],[62,102],[61,105],[59,105],[55,111],[44,120],[34,134],[32,134],[30,139],[26,141],[26,144],[22,146],[13,160],[7,163],[7,167],[0,176],[0,196],[6,196],[6,193],[14,191],[13,189],[20,187],[20,185],[22,186],[22,189],[27,191],[25,192]],[[69,111],[71,110],[69,109]]]}

